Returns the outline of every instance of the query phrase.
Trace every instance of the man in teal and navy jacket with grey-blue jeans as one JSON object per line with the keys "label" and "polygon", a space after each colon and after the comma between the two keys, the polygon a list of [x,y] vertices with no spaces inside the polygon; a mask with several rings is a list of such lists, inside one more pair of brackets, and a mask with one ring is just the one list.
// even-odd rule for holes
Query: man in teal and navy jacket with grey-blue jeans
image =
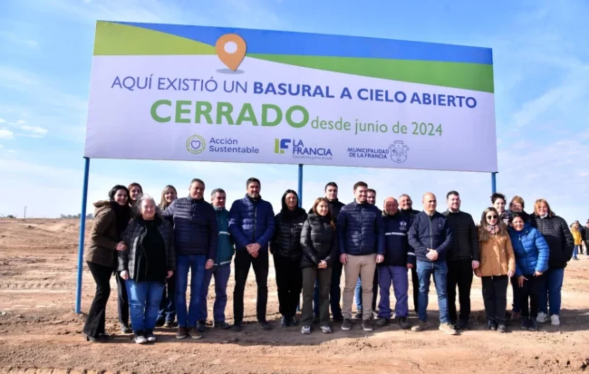
{"label": "man in teal and navy jacket with grey-blue jeans", "polygon": [[204,274],[203,290],[201,292],[200,315],[196,325],[198,331],[204,332],[207,322],[207,296],[211,279],[215,277],[215,303],[213,305],[214,327],[229,329],[231,325],[225,322],[225,307],[227,306],[227,282],[231,274],[231,259],[233,259],[234,240],[229,235],[229,211],[225,208],[227,194],[223,188],[215,188],[211,193],[211,203],[217,214],[217,227],[219,227],[219,244],[217,244],[217,257],[212,269]]}

